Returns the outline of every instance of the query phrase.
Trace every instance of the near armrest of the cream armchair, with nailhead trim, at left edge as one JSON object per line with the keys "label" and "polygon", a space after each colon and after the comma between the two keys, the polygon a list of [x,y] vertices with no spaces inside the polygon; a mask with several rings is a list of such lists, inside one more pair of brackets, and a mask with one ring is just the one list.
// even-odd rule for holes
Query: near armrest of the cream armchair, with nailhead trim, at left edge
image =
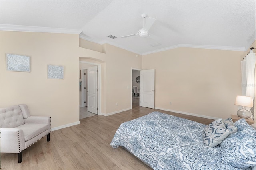
{"label": "near armrest of the cream armchair, with nailhead trim, at left edge", "polygon": [[20,153],[25,148],[25,139],[22,129],[0,128],[1,152]]}

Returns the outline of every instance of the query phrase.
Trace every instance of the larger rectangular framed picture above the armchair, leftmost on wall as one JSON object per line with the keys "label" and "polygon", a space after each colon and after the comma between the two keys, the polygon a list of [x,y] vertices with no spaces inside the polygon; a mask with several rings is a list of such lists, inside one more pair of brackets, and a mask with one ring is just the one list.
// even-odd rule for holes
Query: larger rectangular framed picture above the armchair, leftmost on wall
{"label": "larger rectangular framed picture above the armchair, leftmost on wall", "polygon": [[30,72],[30,57],[6,54],[6,71]]}

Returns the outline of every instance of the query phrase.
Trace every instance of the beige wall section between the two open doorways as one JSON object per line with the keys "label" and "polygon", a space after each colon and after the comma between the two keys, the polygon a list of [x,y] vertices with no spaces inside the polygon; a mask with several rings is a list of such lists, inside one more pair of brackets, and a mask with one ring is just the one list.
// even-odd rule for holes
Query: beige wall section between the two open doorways
{"label": "beige wall section between the two open doorways", "polygon": [[[86,44],[90,44],[86,40],[80,40],[80,43],[80,49],[87,48]],[[96,48],[100,47],[99,44],[95,45]],[[94,63],[101,63],[101,112],[103,115],[111,115],[131,109],[132,68],[142,68],[142,56],[109,44],[101,47],[104,53],[98,57],[95,57],[96,54],[80,55],[81,61],[93,63],[95,60]]]}

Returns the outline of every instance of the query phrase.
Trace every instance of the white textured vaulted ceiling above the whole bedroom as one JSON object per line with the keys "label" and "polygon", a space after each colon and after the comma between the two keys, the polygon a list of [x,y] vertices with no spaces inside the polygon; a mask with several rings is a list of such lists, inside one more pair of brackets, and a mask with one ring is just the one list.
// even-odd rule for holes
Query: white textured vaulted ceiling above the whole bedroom
{"label": "white textured vaulted ceiling above the whole bedroom", "polygon": [[[148,54],[176,47],[246,51],[255,41],[255,1],[0,1],[0,29],[80,34]],[[142,13],[155,18],[150,36]],[[116,36],[111,39],[109,35]]]}

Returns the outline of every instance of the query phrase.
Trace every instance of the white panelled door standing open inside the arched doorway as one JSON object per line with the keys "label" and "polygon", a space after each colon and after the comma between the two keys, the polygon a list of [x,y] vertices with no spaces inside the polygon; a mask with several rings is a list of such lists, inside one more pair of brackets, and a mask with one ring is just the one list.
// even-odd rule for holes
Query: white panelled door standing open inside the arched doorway
{"label": "white panelled door standing open inside the arched doorway", "polygon": [[98,66],[87,69],[87,111],[98,114]]}

